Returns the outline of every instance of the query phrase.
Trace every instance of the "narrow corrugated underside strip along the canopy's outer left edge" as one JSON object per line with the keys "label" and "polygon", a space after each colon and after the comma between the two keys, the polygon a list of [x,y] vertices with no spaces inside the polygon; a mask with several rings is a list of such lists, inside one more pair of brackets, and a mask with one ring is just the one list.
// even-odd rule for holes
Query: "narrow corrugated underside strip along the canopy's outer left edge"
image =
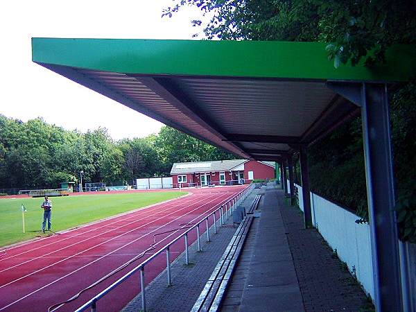
{"label": "narrow corrugated underside strip along the canopy's outer left edge", "polygon": [[216,135],[209,132],[209,130],[206,130],[189,118],[189,116],[171,105],[171,103],[165,101],[164,98],[153,92],[144,85],[144,83],[141,83],[139,78],[128,76],[124,73],[112,73],[107,71],[92,71],[87,69],[77,69],[77,71],[87,76],[89,79],[95,80],[112,92],[121,94],[130,101],[137,103],[137,105],[141,105],[147,110],[151,110],[156,114],[163,116],[164,119],[172,121],[172,123],[179,125],[180,128],[193,132],[194,134],[213,142],[217,146],[224,146],[234,153],[240,153],[234,146],[230,146],[227,142],[222,141],[220,138],[216,137]]}

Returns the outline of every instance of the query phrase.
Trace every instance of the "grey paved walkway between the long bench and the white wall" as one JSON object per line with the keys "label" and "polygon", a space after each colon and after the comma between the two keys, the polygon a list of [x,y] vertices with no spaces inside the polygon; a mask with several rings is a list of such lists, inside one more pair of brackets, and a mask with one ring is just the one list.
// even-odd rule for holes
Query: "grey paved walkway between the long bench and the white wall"
{"label": "grey paved walkway between the long bench and the white wall", "polygon": [[355,279],[297,207],[268,187],[221,311],[372,311]]}

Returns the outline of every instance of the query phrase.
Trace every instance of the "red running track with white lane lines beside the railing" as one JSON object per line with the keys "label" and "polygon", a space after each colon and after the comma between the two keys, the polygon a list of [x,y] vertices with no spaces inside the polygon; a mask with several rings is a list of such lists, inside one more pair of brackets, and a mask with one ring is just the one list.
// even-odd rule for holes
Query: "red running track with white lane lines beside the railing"
{"label": "red running track with white lane lines beside the railing", "polygon": [[[202,220],[244,188],[195,189],[177,200],[10,248],[0,256],[0,311],[47,311],[148,249],[154,234],[177,229],[158,235],[155,250],[55,310],[74,311],[180,236],[187,229],[184,223]],[[191,231],[189,242],[195,240],[196,231]],[[184,241],[179,240],[170,250],[173,261],[184,251]],[[146,266],[145,284],[164,268],[166,256],[162,253]],[[137,274],[99,300],[98,311],[119,311],[139,293],[139,288]]]}

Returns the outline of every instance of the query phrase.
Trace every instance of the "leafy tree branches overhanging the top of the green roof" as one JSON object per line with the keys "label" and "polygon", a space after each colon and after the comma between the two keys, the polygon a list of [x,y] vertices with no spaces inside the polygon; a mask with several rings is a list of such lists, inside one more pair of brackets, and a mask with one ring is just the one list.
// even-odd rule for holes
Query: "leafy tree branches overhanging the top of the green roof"
{"label": "leafy tree branches overhanging the top of the green roof", "polygon": [[336,67],[362,59],[371,65],[392,44],[416,43],[416,5],[409,0],[173,0],[162,16],[182,6],[212,16],[204,28],[209,39],[327,42]]}

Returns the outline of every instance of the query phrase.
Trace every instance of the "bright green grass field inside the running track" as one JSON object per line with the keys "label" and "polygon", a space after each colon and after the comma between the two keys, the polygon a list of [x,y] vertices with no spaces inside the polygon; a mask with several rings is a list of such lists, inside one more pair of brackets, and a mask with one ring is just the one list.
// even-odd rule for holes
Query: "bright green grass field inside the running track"
{"label": "bright green grass field inside the running track", "polygon": [[[108,216],[185,195],[186,192],[112,193],[100,195],[65,196],[51,198],[52,229],[69,229]],[[26,241],[40,232],[43,221],[43,198],[0,199],[0,246]],[[21,205],[26,207],[26,234],[21,224]]]}

